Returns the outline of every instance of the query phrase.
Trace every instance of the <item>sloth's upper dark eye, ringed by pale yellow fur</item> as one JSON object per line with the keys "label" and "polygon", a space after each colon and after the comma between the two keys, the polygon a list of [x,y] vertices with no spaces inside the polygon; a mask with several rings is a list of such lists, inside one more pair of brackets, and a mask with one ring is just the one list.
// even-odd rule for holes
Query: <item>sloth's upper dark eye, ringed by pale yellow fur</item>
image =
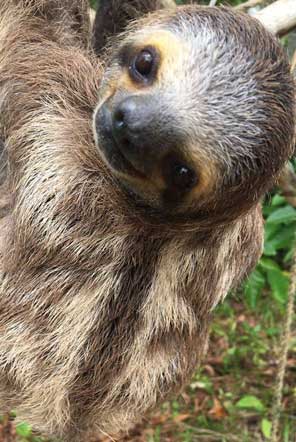
{"label": "sloth's upper dark eye, ringed by pale yellow fur", "polygon": [[149,82],[156,70],[156,54],[153,48],[139,52],[130,65],[131,77],[136,81]]}

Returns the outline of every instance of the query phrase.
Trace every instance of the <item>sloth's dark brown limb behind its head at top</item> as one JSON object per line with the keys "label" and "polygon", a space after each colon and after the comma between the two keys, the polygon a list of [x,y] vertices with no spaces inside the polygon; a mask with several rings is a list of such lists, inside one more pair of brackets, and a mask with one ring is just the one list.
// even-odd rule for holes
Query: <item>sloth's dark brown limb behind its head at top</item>
{"label": "sloth's dark brown limb behind its head at top", "polygon": [[93,28],[96,54],[99,55],[108,39],[122,32],[131,20],[175,6],[175,0],[101,0]]}

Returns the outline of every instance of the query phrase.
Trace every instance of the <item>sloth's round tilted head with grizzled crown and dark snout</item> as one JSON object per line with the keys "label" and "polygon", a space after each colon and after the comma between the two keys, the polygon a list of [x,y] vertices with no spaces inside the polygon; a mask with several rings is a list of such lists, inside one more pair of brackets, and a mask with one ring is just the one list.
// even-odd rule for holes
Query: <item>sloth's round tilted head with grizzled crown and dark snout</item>
{"label": "sloth's round tilted head with grizzled crown and dark snout", "polygon": [[99,152],[145,204],[240,213],[291,154],[294,90],[254,19],[187,6],[152,14],[113,51],[94,115]]}

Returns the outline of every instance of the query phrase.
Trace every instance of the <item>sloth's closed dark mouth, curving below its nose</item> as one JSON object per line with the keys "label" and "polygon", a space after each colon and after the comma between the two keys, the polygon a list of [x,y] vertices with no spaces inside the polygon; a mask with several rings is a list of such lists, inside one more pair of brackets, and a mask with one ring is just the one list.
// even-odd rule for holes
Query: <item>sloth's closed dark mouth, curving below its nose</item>
{"label": "sloth's closed dark mouth, curving below its nose", "polygon": [[[128,174],[135,178],[145,179],[147,176],[128,159],[119,145],[112,130],[112,116],[108,107],[103,104],[95,115],[95,131],[98,136],[98,149],[103,154],[105,162],[116,172]],[[122,143],[129,143],[123,140]]]}

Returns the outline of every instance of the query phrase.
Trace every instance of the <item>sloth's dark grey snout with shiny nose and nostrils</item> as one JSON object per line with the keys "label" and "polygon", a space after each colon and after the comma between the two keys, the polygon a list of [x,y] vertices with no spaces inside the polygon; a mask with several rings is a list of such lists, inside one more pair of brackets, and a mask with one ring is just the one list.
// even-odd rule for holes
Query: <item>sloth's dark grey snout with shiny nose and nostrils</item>
{"label": "sloth's dark grey snout with shiny nose and nostrils", "polygon": [[[150,176],[170,147],[162,143],[158,112],[151,97],[133,95],[106,101],[95,114],[98,147],[115,169]],[[128,164],[127,164],[128,163]],[[126,167],[127,166],[127,167]]]}

